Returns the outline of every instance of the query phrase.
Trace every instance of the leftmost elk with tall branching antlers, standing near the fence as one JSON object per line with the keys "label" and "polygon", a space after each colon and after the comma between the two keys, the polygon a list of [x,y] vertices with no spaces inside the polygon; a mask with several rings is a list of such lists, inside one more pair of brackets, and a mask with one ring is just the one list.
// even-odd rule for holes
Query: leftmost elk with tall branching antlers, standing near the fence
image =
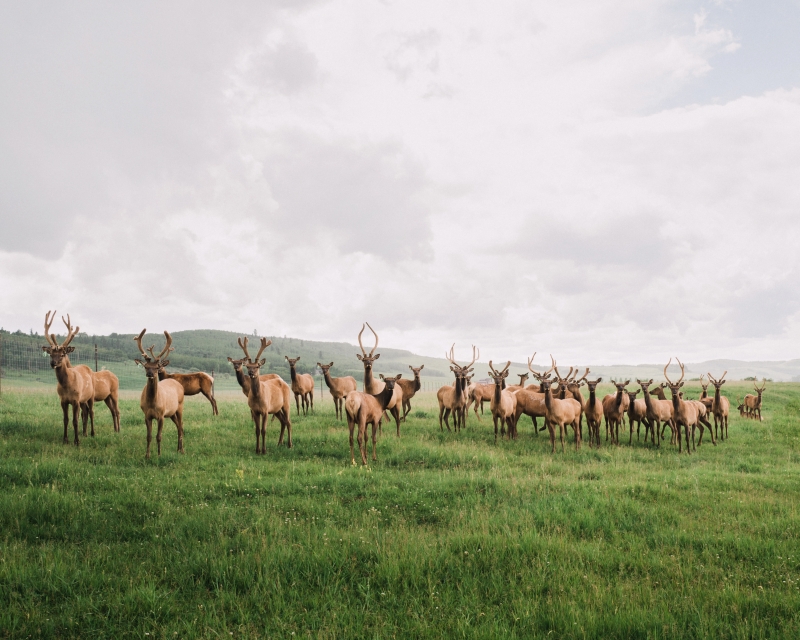
{"label": "leftmost elk with tall branching antlers, standing near the fence", "polygon": [[[55,311],[48,311],[45,315],[44,337],[47,340],[47,346],[42,347],[42,351],[50,356],[50,367],[55,371],[58,382],[56,393],[61,401],[61,412],[64,415],[64,444],[69,443],[67,429],[69,428],[69,407],[72,407],[72,426],[75,430],[75,445],[77,446],[80,444],[78,410],[81,410],[83,434],[86,435],[86,421],[94,404],[94,378],[89,367],[86,365],[73,367],[69,361],[69,354],[75,351],[75,347],[71,347],[69,343],[78,334],[80,327],[75,327],[73,330],[69,320],[64,320],[64,316],[61,316],[61,320],[67,326],[67,337],[64,342],[58,344],[55,336],[50,335],[50,326],[55,317]],[[69,314],[67,314],[67,318],[69,318]],[[92,424],[92,435],[94,435],[94,423]]]}

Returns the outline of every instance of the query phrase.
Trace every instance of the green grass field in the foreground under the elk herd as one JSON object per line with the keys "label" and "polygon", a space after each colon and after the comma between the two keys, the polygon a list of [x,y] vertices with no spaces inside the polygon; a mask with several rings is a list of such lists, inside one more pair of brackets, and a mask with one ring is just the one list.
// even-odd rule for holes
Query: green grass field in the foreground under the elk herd
{"label": "green grass field in the foreground under the elk herd", "polygon": [[0,636],[798,637],[800,384],[764,403],[691,456],[551,455],[527,418],[441,433],[428,393],[361,468],[327,398],[258,457],[244,396],[187,399],[146,461],[130,394],[76,448],[54,389],[4,389]]}

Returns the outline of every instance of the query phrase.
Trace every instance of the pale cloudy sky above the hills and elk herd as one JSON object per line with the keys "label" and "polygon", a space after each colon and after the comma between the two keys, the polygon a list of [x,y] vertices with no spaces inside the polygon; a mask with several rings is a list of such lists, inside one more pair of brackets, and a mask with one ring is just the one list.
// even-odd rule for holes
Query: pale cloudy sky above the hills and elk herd
{"label": "pale cloudy sky above the hills and elk herd", "polygon": [[0,324],[800,357],[800,0],[3,2]]}

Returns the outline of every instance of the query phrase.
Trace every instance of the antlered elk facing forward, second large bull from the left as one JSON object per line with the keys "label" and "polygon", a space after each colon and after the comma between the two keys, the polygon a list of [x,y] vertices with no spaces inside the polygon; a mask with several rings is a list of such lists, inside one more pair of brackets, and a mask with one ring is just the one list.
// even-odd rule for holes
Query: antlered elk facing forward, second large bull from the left
{"label": "antlered elk facing forward, second large bull from the left", "polygon": [[142,413],[144,413],[144,423],[147,426],[147,453],[145,458],[150,457],[153,420],[158,423],[156,443],[158,444],[158,455],[161,455],[161,431],[164,428],[164,418],[172,420],[178,428],[178,453],[183,453],[183,387],[177,380],[167,378],[161,381],[158,379],[158,370],[169,364],[169,360],[162,360],[161,358],[170,352],[172,337],[165,331],[164,336],[167,342],[161,353],[154,355],[153,349],[155,349],[155,345],[153,345],[148,348],[150,352],[148,356],[142,347],[142,338],[145,331],[147,329],[142,329],[142,332],[133,339],[136,342],[136,346],[139,347],[139,353],[144,356],[144,362],[139,359],[135,359],[134,362],[144,367],[147,376],[147,381],[139,400],[139,406],[142,409]]}

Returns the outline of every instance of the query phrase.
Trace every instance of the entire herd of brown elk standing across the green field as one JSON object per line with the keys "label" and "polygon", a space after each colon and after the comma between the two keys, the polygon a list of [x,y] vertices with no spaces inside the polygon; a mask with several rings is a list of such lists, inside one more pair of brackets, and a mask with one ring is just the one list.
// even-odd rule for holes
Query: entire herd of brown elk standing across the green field
{"label": "entire herd of brown elk standing across the green field", "polygon": [[[52,314],[52,315],[51,315]],[[69,354],[74,351],[70,343],[80,331],[79,327],[73,329],[69,320],[62,317],[67,328],[67,336],[59,344],[56,338],[51,335],[55,312],[49,312],[45,316],[45,339],[47,346],[42,349],[50,355],[50,366],[56,374],[58,382],[56,390],[60,399],[63,421],[64,421],[64,442],[68,442],[69,410],[72,408],[72,421],[75,433],[75,444],[79,443],[78,437],[78,412],[80,411],[83,423],[83,434],[87,434],[87,427],[91,421],[91,435],[94,436],[94,403],[104,401],[111,411],[114,430],[119,431],[119,380],[110,371],[94,372],[85,365],[73,367],[69,361]],[[362,335],[365,328],[369,327],[375,337],[375,345],[367,353],[362,343]],[[144,360],[138,358],[135,362],[145,369],[146,384],[142,390],[140,407],[145,417],[147,427],[147,450],[146,457],[150,457],[150,444],[152,440],[152,423],[155,420],[158,425],[156,440],[158,443],[158,454],[161,455],[161,435],[164,418],[170,418],[178,429],[178,451],[183,453],[183,401],[185,396],[203,394],[211,403],[214,415],[219,415],[216,400],[213,395],[213,378],[206,373],[196,372],[190,374],[170,374],[166,371],[169,360],[166,356],[173,350],[172,337],[165,331],[166,344],[162,351],[155,355],[154,346],[147,350],[142,346],[142,339],[145,330],[134,338],[140,354]],[[295,365],[300,358],[289,358],[291,375],[291,386],[287,384],[279,375],[274,373],[261,374],[260,369],[265,364],[265,359],[261,358],[264,350],[271,344],[266,338],[261,338],[261,348],[255,359],[250,357],[248,352],[248,339],[242,337],[238,339],[239,347],[244,353],[244,358],[235,360],[228,358],[236,374],[242,392],[247,396],[248,406],[251,417],[255,424],[256,431],[256,453],[266,453],[266,423],[267,417],[272,416],[273,420],[279,420],[281,424],[278,444],[283,443],[286,434],[286,444],[292,446],[292,424],[291,424],[291,395],[295,396],[295,404],[298,412],[302,411],[307,415],[308,409],[313,410],[314,380],[308,374],[298,373]],[[334,401],[335,414],[337,419],[346,417],[350,430],[350,454],[351,461],[355,463],[353,449],[353,433],[355,425],[358,424],[358,443],[361,451],[361,458],[367,464],[367,425],[372,425],[373,450],[372,458],[376,458],[375,438],[381,430],[381,424],[386,412],[391,412],[397,426],[397,435],[400,436],[400,422],[404,421],[411,411],[411,398],[421,389],[420,372],[424,368],[409,365],[414,377],[413,380],[403,380],[402,374],[396,376],[380,375],[380,380],[375,379],[373,374],[373,364],[380,357],[375,353],[378,348],[378,334],[369,325],[364,323],[358,334],[358,344],[361,353],[356,357],[364,366],[364,391],[357,390],[355,378],[351,376],[334,378],[330,375],[330,364],[317,363],[322,371],[325,382],[330,390]],[[725,384],[725,371],[719,379],[714,378],[710,373],[706,380],[704,376],[700,378],[702,393],[698,400],[685,399],[683,394],[685,367],[678,360],[680,367],[680,378],[673,382],[668,375],[668,368],[672,359],[664,367],[664,377],[666,382],[653,386],[653,380],[638,380],[640,389],[629,391],[626,387],[630,380],[611,382],[616,387],[614,393],[605,396],[602,401],[597,397],[597,385],[602,382],[602,378],[589,380],[587,378],[589,369],[587,368],[583,376],[578,378],[578,369],[570,367],[566,376],[562,376],[558,370],[555,359],[550,356],[551,367],[544,373],[534,371],[532,367],[533,357],[528,359],[528,370],[530,373],[518,374],[520,377],[518,385],[506,385],[509,376],[511,362],[507,362],[501,370],[494,368],[492,361],[489,361],[489,376],[492,378],[491,384],[472,384],[471,380],[474,372],[474,364],[480,357],[477,348],[472,347],[472,360],[466,365],[459,365],[454,355],[455,345],[450,347],[450,352],[445,354],[450,362],[450,370],[453,372],[455,380],[452,385],[444,385],[437,392],[439,403],[439,428],[447,427],[450,431],[449,417],[452,415],[454,429],[459,432],[466,426],[468,409],[473,407],[478,420],[478,405],[481,405],[483,412],[483,402],[489,401],[494,423],[495,441],[497,440],[498,427],[501,436],[508,433],[511,440],[517,438],[517,426],[522,415],[530,416],[534,432],[538,433],[537,418],[544,419],[542,430],[548,429],[550,433],[551,451],[555,452],[555,429],[559,430],[561,449],[564,450],[564,440],[567,429],[572,426],[575,438],[575,447],[580,449],[583,440],[583,416],[586,416],[586,424],[589,431],[589,445],[592,447],[600,446],[600,422],[606,422],[606,440],[611,439],[613,444],[619,445],[619,430],[624,427],[625,416],[627,415],[629,424],[628,443],[633,442],[633,427],[636,424],[637,440],[640,438],[642,423],[645,425],[645,442],[648,434],[654,446],[660,446],[664,430],[667,426],[672,432],[671,443],[678,446],[678,451],[683,451],[683,442],[686,442],[687,453],[696,449],[697,445],[702,444],[705,429],[707,428],[711,437],[712,444],[716,445],[716,440],[728,438],[728,420],[730,414],[730,402],[721,394],[721,387]],[[149,352],[149,355],[148,355]],[[244,369],[247,373],[244,373]],[[538,385],[525,386],[529,376],[532,375]],[[708,394],[708,387],[714,385],[713,397]],[[584,398],[581,387],[586,385],[589,393],[588,398]],[[739,413],[742,416],[758,418],[761,420],[762,394],[766,387],[766,381],[759,387],[755,384],[754,390],[757,395],[748,394],[743,401],[739,402]],[[669,388],[672,397],[667,399],[664,389]],[[642,393],[641,399],[637,395]],[[711,426],[710,418],[714,418],[714,426]],[[700,438],[695,442],[696,430],[700,430]],[[690,442],[691,433],[691,442]]]}

